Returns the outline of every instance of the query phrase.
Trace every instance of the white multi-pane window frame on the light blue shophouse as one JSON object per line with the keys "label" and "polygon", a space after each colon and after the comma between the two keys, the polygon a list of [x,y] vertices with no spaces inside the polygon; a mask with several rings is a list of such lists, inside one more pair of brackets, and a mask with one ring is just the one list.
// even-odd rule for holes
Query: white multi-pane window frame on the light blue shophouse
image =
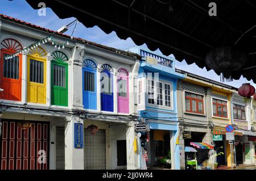
{"label": "white multi-pane window frame on the light blue shophouse", "polygon": [[[148,81],[154,81],[154,104],[151,104],[151,103],[148,103],[148,94],[147,95],[147,98],[146,98],[146,106],[148,107],[155,107],[155,108],[162,108],[164,110],[171,110],[171,111],[174,111],[174,89],[173,89],[173,83],[172,82],[167,82],[167,81],[162,81],[162,80],[159,80],[158,82],[162,83],[163,87],[163,106],[161,105],[158,105],[157,104],[157,91],[156,91],[156,82],[154,80],[154,78],[147,78],[147,83],[146,83],[146,87],[147,87],[147,92],[148,92]],[[164,84],[167,84],[167,85],[170,85],[170,100],[171,100],[171,107],[168,107],[168,106],[165,106],[166,104],[166,94],[165,94],[165,89],[164,89]]]}

